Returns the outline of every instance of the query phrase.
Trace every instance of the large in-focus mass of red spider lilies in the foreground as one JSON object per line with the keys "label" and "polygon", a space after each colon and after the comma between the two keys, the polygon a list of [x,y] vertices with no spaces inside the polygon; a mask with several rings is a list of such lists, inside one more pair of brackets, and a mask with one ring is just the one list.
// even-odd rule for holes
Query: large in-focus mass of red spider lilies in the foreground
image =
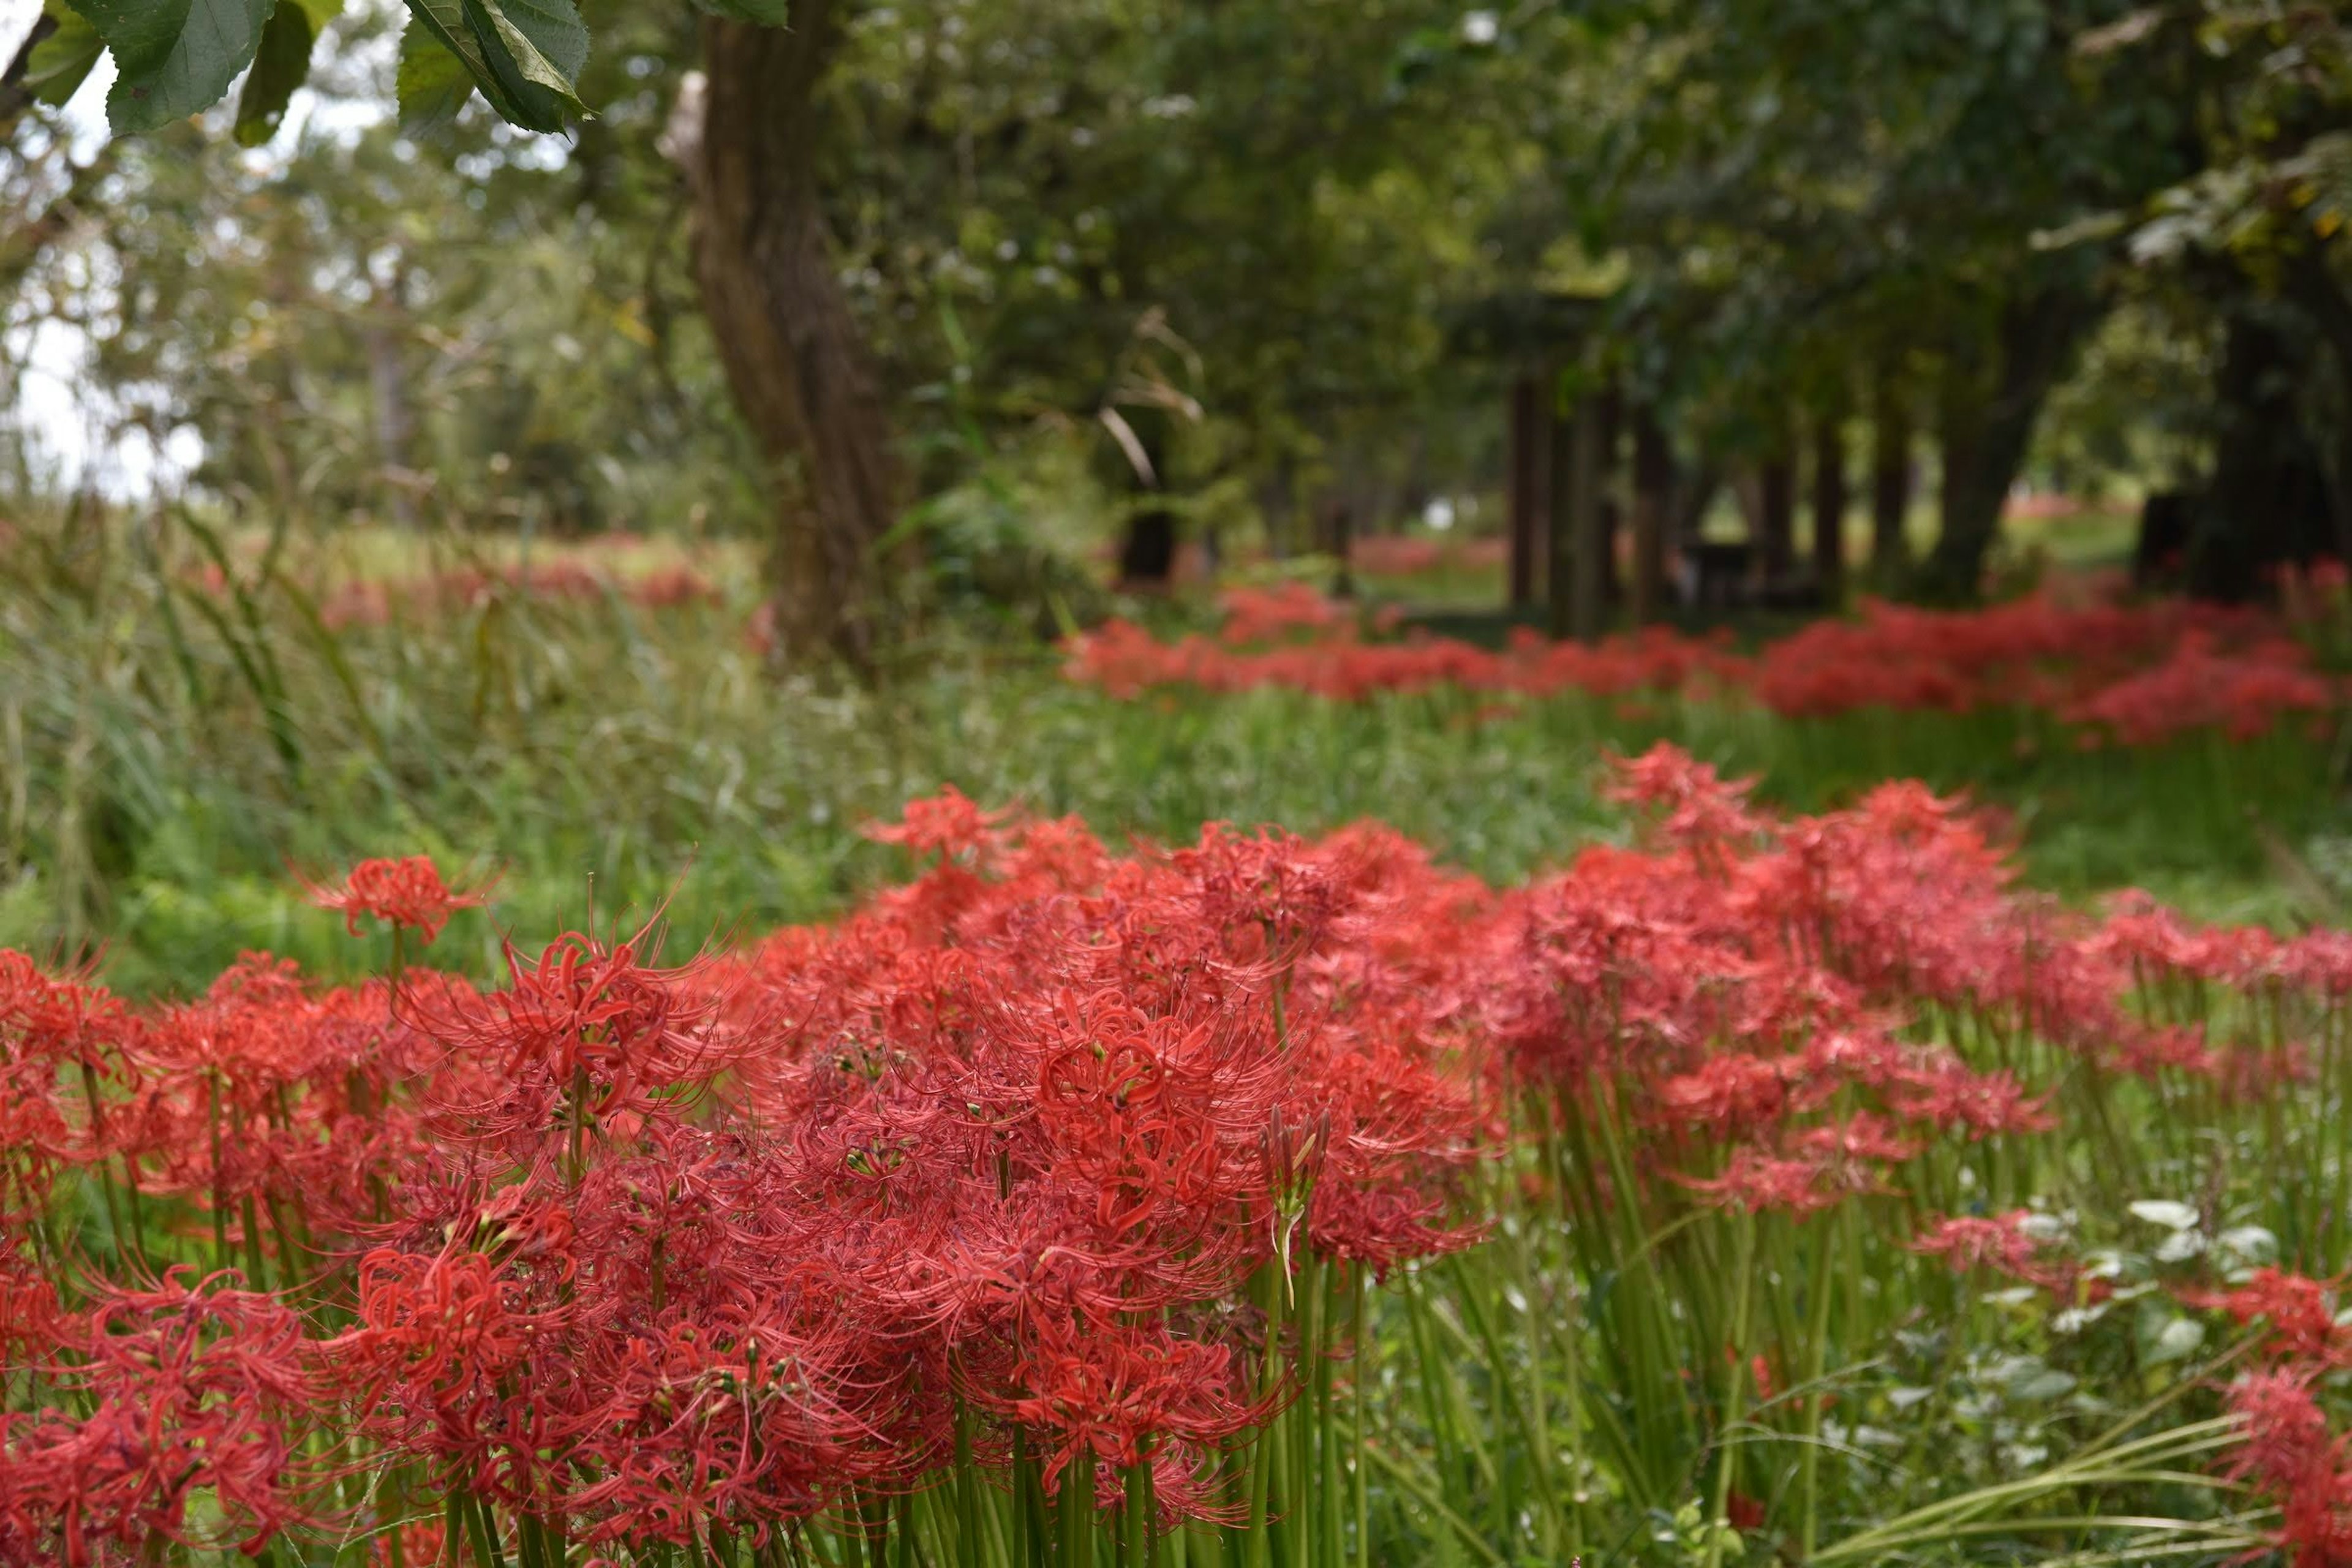
{"label": "large in-focus mass of red spider lilies in the foreground", "polygon": [[[0,1561],[734,1561],[950,1474],[1242,1530],[1317,1507],[1263,1434],[1329,1406],[1371,1281],[1486,1234],[1515,1147],[1606,1117],[1609,1180],[1693,1211],[1936,1213],[1926,1152],[2044,1135],[2060,1070],[2267,1093],[2286,1009],[2352,994],[2343,936],[2023,896],[1917,785],[1783,820],[1661,748],[1618,788],[1639,849],[1510,891],[1381,827],[1115,856],[950,790],[875,830],[908,884],[684,966],[567,933],[499,985],[249,957],[127,1006],[0,954]],[[423,886],[334,898],[423,929]],[[1915,1246],[2077,1288],[2027,1215]],[[2246,1291],[2343,1361],[2300,1286]],[[1788,1363],[1731,1361],[1766,1399]],[[2300,1497],[2288,1458],[2246,1474]]]}

